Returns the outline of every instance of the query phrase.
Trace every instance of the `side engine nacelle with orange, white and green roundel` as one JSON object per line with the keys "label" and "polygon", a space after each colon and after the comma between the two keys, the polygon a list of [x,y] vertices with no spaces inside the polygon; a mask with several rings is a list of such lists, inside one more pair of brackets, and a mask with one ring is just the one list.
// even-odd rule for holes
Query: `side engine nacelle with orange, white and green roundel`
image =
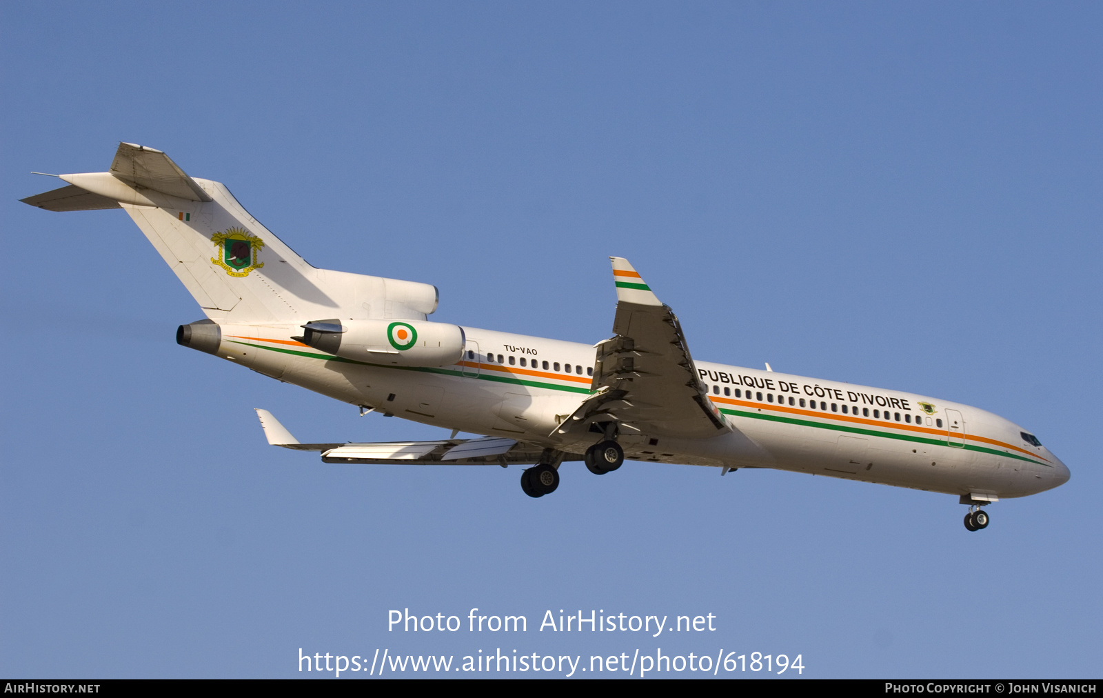
{"label": "side engine nacelle with orange, white and green roundel", "polygon": [[295,337],[314,349],[354,361],[441,367],[457,363],[467,338],[458,325],[425,320],[314,320]]}

